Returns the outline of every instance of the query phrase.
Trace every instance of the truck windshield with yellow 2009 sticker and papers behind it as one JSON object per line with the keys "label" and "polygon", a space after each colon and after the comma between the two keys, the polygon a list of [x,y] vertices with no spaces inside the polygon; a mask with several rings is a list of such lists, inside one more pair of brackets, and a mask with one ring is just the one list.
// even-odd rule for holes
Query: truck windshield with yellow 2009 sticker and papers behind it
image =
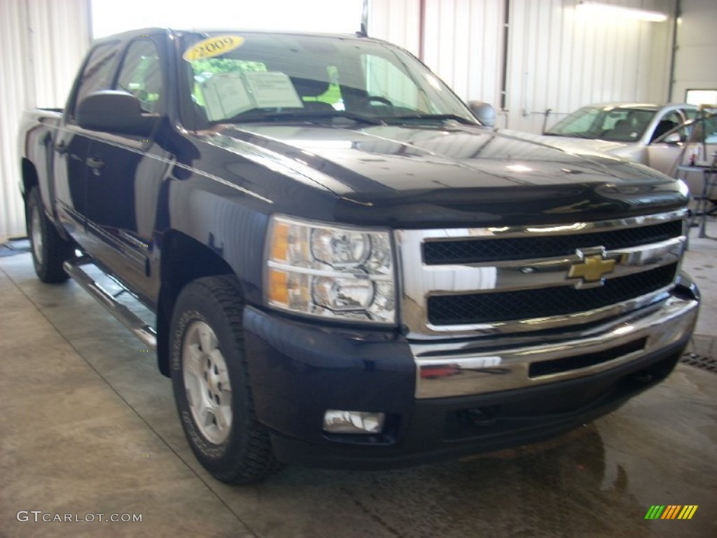
{"label": "truck windshield with yellow 2009 sticker and papers behind it", "polygon": [[[188,110],[200,125],[478,123],[424,65],[386,43],[242,32],[187,34],[181,47],[191,94]],[[217,54],[222,47],[229,50]]]}

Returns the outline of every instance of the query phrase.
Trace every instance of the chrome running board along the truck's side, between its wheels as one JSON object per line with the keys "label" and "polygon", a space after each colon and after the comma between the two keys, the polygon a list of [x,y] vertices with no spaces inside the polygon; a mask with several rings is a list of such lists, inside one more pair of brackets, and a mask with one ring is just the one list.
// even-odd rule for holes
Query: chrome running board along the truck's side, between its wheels
{"label": "chrome running board along the truck's side, between its wheels", "polygon": [[[149,349],[156,349],[157,333],[153,327],[146,324],[136,313],[120,303],[115,296],[106,291],[92,276],[86,273],[82,266],[90,264],[93,265],[90,258],[73,258],[62,264],[62,268],[65,269],[65,272],[70,275],[72,280],[75,280],[85,291],[97,299],[102,306],[107,308],[108,312],[115,316],[115,318],[140,339],[143,344]],[[116,280],[114,281],[116,283]],[[120,284],[118,283],[118,285]],[[123,288],[123,292],[130,293],[125,288]]]}

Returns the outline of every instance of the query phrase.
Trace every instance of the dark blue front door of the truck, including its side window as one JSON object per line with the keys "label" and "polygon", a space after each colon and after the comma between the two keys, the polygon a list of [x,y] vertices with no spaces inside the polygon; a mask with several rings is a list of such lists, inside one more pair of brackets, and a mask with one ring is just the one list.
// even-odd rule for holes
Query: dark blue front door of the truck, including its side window
{"label": "dark blue front door of the truck, including its side window", "polygon": [[[131,42],[115,90],[135,95],[143,112],[163,113],[163,83],[156,44]],[[97,133],[87,155],[87,250],[142,290],[148,285],[154,215],[169,159],[152,136]]]}

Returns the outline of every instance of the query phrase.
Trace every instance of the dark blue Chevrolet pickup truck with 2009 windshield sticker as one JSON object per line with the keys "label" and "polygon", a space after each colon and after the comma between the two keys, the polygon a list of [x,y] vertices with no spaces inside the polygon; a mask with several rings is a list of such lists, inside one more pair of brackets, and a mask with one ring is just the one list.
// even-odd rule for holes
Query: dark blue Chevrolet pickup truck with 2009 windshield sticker
{"label": "dark blue Chevrolet pickup truck with 2009 windshield sticker", "polygon": [[528,138],[364,35],[108,37],[24,116],[34,265],[156,349],[219,480],[548,438],[664,379],[699,299],[685,184]]}

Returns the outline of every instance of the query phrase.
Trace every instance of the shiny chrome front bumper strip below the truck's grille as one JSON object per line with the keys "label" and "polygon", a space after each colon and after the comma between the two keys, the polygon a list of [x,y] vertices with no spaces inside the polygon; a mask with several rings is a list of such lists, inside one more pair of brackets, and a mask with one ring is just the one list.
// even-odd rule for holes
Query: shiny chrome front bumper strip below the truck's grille
{"label": "shiny chrome front bumper strip below the truck's grille", "polygon": [[698,306],[697,298],[673,295],[589,335],[537,345],[511,346],[498,339],[490,351],[478,351],[475,339],[413,341],[416,397],[478,395],[605,372],[688,339]]}

